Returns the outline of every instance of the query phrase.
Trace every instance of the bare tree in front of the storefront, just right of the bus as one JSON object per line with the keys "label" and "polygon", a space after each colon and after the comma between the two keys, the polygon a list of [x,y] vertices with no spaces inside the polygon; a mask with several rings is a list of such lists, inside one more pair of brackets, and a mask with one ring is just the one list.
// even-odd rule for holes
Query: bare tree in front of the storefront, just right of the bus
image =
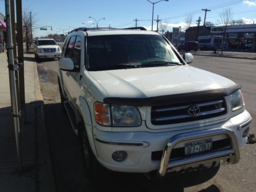
{"label": "bare tree in front of the storefront, just right of the bus", "polygon": [[222,12],[219,13],[221,24],[223,26],[223,41],[222,41],[222,49],[221,49],[221,55],[223,54],[223,46],[225,42],[226,37],[226,31],[228,29],[228,26],[231,24],[232,20],[232,12],[230,8],[224,9]]}

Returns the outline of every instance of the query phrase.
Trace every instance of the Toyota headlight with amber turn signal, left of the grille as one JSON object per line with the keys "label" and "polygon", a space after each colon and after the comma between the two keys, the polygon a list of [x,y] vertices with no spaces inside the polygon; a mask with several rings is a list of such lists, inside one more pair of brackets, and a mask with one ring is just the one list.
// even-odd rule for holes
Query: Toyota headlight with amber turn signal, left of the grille
{"label": "Toyota headlight with amber turn signal, left of the grille", "polygon": [[94,104],[94,116],[96,122],[104,126],[141,125],[140,113],[135,106],[110,105],[96,102]]}

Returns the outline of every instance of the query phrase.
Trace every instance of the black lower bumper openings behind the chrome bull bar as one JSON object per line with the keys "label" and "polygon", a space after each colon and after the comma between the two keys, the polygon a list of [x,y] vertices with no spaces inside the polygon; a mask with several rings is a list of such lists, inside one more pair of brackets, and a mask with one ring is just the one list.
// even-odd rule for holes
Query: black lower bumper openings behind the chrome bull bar
{"label": "black lower bumper openings behind the chrome bull bar", "polygon": [[[231,148],[231,142],[230,142],[229,138],[221,139],[218,141],[212,141],[211,151],[206,151],[203,153],[211,153],[211,152],[226,150],[227,148]],[[155,161],[159,161],[162,158],[162,154],[163,154],[162,151],[152,152],[151,159],[155,160]],[[199,155],[199,154],[196,154],[196,155]],[[185,157],[187,157],[187,156],[185,156],[185,148],[184,147],[174,148],[172,153],[170,153],[169,161],[183,159]]]}

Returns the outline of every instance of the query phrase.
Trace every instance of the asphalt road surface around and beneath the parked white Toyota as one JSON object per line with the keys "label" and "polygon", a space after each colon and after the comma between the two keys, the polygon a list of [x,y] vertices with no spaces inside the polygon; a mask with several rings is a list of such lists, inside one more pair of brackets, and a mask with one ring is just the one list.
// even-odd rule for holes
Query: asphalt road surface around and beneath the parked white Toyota
{"label": "asphalt road surface around and beneath the parked white Toyota", "polygon": [[[252,117],[255,117],[255,60],[195,56],[191,66],[220,74],[240,83],[243,87],[246,109]],[[221,166],[219,171],[212,169],[210,172],[202,170],[182,176],[168,176],[161,183],[148,181],[141,174],[121,173],[112,173],[111,181],[108,181],[108,184],[89,182],[83,172],[77,137],[72,131],[67,115],[61,111],[57,69],[57,60],[44,60],[38,63],[38,75],[45,102],[46,127],[57,191],[217,192],[256,190],[256,144],[245,144],[241,149],[240,162],[236,165]],[[255,124],[253,119],[250,133],[256,133]]]}

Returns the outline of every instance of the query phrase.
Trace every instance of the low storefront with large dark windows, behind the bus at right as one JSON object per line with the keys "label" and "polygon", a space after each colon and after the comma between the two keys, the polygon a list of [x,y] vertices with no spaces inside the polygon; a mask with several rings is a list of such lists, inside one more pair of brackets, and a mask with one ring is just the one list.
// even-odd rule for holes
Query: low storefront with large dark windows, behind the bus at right
{"label": "low storefront with large dark windows, behind the bus at right", "polygon": [[[211,27],[211,34],[223,35],[224,26]],[[225,49],[256,50],[256,24],[231,25],[226,28]]]}

